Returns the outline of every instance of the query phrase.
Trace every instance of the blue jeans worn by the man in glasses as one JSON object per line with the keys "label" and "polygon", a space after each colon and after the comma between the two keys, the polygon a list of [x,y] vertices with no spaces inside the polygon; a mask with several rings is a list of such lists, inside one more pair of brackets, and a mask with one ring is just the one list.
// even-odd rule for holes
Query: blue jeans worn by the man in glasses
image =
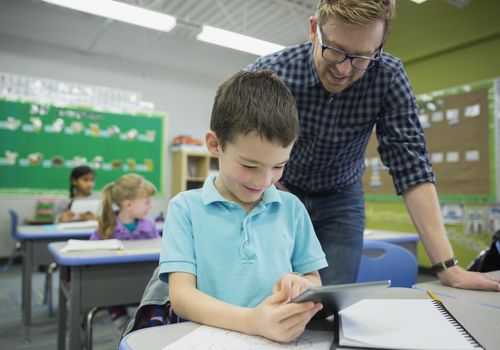
{"label": "blue jeans worn by the man in glasses", "polygon": [[325,193],[287,187],[304,203],[326,254],[328,267],[320,270],[323,285],[356,282],[365,227],[361,181]]}

